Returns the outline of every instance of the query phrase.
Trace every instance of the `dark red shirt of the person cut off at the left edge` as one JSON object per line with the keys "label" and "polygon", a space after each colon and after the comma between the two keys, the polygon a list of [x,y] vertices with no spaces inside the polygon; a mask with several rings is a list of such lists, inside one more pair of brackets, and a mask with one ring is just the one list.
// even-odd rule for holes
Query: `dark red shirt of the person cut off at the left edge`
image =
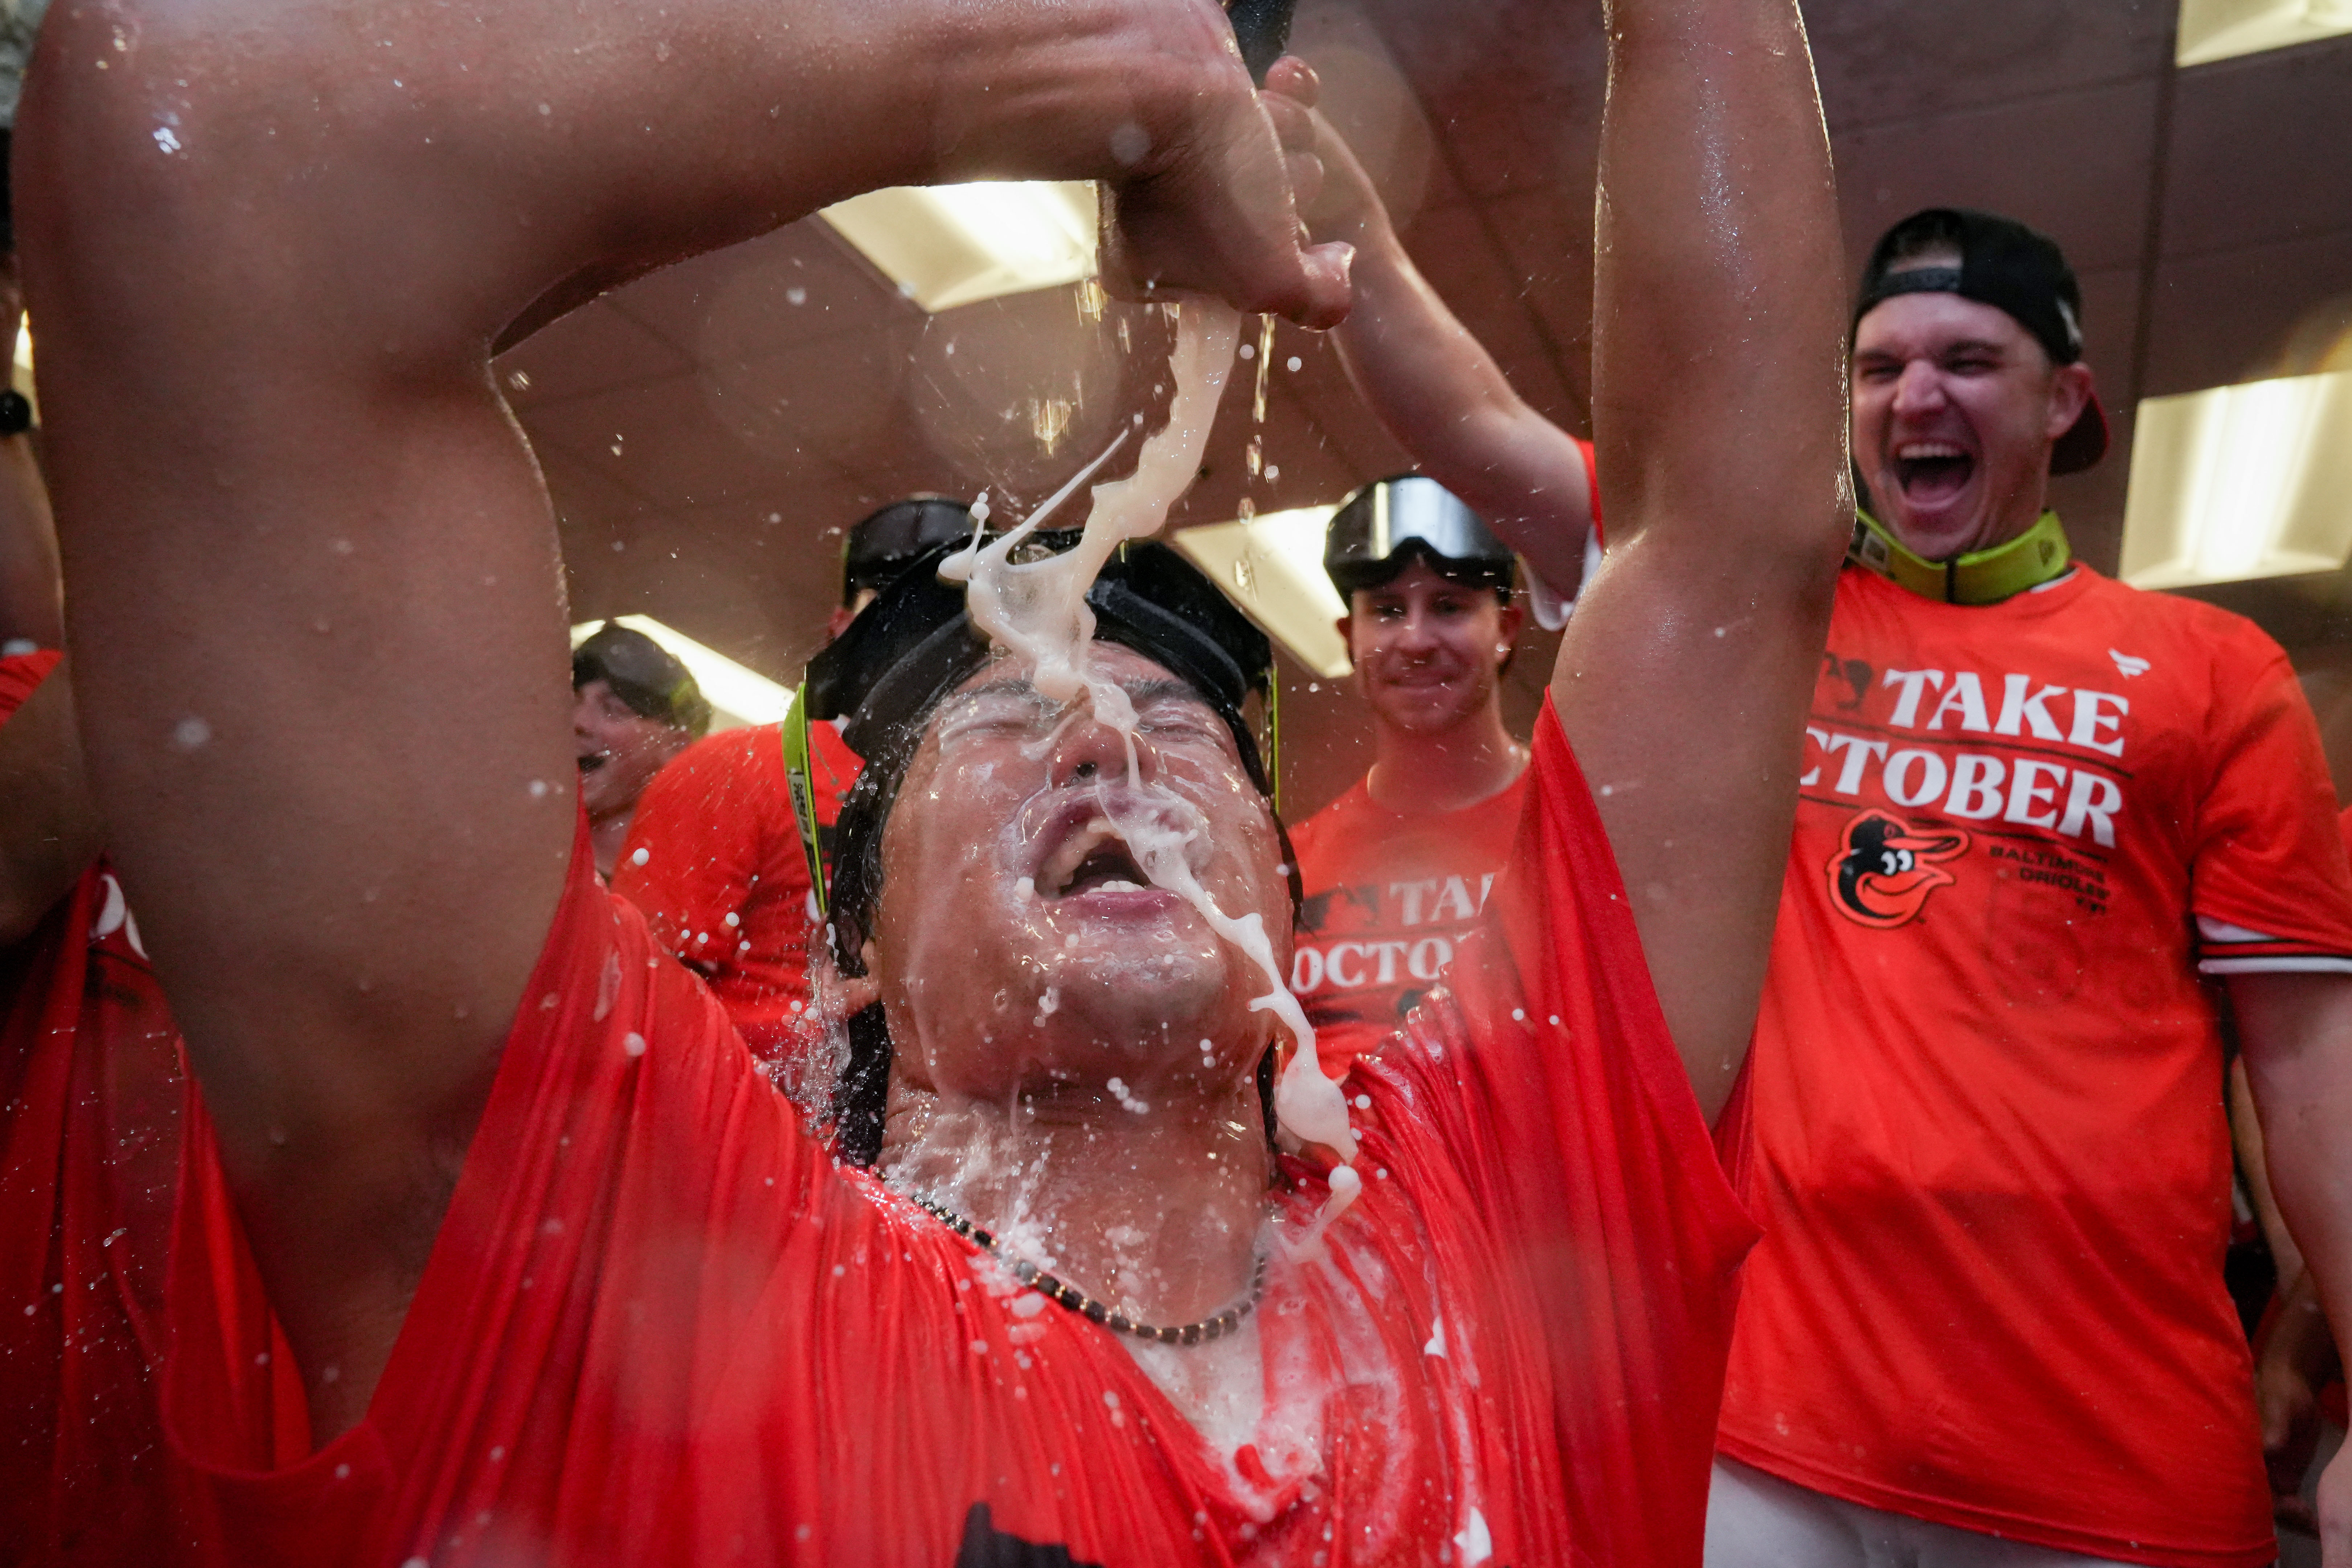
{"label": "dark red shirt of the person cut off at the left edge", "polygon": [[[56,654],[0,658],[0,722]],[[0,1556],[146,1561],[162,1526],[179,1032],[103,863],[0,950]]]}

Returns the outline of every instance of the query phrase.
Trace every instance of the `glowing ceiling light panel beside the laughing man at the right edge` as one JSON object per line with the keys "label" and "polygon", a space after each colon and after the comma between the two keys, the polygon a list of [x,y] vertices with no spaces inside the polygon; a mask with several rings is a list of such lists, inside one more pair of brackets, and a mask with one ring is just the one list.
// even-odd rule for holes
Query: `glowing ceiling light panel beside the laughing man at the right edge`
{"label": "glowing ceiling light panel beside the laughing man at the right edge", "polygon": [[2147,397],[2124,581],[2190,588],[2336,571],[2352,552],[2352,371]]}

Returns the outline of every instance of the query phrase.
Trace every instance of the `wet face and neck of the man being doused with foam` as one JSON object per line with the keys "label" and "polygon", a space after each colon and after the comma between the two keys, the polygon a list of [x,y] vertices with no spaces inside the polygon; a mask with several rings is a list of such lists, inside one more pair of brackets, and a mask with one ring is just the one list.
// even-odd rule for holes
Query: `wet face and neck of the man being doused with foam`
{"label": "wet face and neck of the man being doused with foam", "polygon": [[[1265,1220],[1256,964],[1148,886],[1101,797],[1190,818],[1195,877],[1289,964],[1289,882],[1223,719],[1096,644],[1136,705],[1136,773],[1089,708],[997,661],[941,705],[882,837],[868,976],[891,1063],[882,1168],[1145,1321],[1232,1302]],[[1120,1079],[1112,1088],[1110,1079]]]}

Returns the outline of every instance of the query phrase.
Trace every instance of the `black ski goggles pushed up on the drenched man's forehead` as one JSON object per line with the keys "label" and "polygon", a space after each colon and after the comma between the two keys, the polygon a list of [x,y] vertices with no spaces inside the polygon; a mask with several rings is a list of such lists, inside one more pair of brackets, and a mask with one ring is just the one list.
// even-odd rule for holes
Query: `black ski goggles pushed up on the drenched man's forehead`
{"label": "black ski goggles pushed up on the drenched man's forehead", "polygon": [[[1042,531],[1044,548],[1075,543],[1075,531]],[[903,769],[920,726],[953,686],[988,658],[988,642],[964,611],[964,590],[938,578],[938,562],[962,541],[927,550],[814,661],[783,717],[783,769],[793,823],[809,865],[818,917],[830,914],[830,886],[816,820],[809,726],[842,719],[849,750],[868,766]],[[1242,769],[1282,813],[1282,682],[1272,642],[1176,550],[1143,541],[1122,545],[1087,590],[1096,639],[1117,642],[1164,665],[1225,722]],[[1263,726],[1244,715],[1263,698]]]}

